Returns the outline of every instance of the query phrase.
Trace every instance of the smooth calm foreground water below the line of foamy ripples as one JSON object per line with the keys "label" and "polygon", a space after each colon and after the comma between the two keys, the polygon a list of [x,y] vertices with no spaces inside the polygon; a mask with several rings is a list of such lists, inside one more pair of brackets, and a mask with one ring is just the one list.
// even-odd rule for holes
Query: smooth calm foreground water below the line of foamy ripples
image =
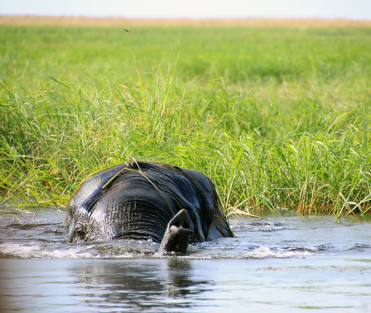
{"label": "smooth calm foreground water below the line of foamy ripples", "polygon": [[2,259],[0,312],[370,312],[371,259]]}

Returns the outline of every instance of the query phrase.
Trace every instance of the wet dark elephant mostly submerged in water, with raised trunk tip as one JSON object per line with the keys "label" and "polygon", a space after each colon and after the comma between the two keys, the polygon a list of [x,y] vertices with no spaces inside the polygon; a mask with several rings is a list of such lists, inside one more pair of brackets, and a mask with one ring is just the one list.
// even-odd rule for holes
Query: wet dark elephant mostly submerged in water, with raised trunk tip
{"label": "wet dark elephant mostly submerged in water, with raised trunk tip", "polygon": [[184,254],[189,242],[233,237],[211,180],[162,163],[134,161],[89,178],[66,213],[68,242],[152,239],[159,252]]}

